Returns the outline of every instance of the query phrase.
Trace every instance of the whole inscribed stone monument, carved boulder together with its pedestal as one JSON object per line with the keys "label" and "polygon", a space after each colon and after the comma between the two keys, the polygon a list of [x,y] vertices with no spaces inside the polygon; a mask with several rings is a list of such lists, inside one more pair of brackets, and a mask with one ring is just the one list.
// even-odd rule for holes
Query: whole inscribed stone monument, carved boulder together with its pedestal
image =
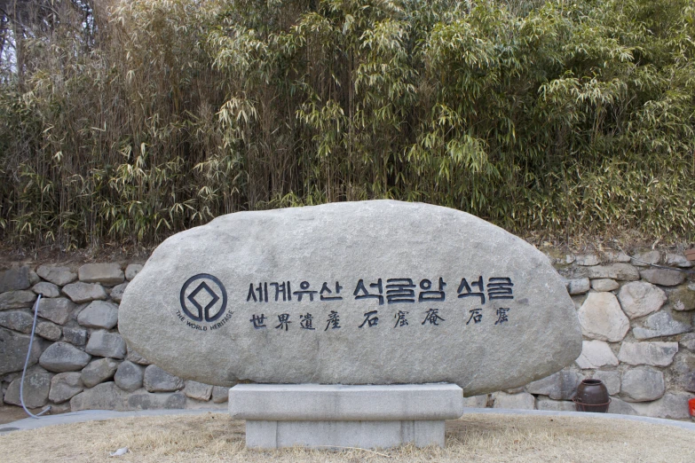
{"label": "whole inscribed stone monument, carved boulder together with its pedestal", "polygon": [[462,396],[546,377],[581,351],[545,255],[475,216],[391,200],[178,233],[128,286],[119,326],[170,373],[256,383],[232,388],[229,408],[263,448],[443,444]]}

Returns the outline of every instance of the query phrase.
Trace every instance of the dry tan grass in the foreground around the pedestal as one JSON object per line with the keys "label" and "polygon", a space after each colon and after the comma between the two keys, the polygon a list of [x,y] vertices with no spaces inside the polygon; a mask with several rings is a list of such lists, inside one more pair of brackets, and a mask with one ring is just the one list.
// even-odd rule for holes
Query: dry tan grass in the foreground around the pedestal
{"label": "dry tan grass in the foreground around the pedestal", "polygon": [[[250,451],[243,421],[224,413],[92,421],[0,436],[0,461],[695,461],[695,433],[626,420],[470,414],[447,421],[446,448]],[[113,461],[108,459],[108,461]]]}

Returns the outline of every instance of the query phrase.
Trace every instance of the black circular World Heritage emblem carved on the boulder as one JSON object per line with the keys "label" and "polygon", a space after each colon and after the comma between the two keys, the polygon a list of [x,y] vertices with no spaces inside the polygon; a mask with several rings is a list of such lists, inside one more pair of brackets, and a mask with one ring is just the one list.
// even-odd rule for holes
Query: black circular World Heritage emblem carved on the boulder
{"label": "black circular World Heritage emblem carved on the boulder", "polygon": [[227,292],[222,282],[209,275],[199,273],[186,280],[181,287],[181,309],[194,321],[213,322],[225,314]]}

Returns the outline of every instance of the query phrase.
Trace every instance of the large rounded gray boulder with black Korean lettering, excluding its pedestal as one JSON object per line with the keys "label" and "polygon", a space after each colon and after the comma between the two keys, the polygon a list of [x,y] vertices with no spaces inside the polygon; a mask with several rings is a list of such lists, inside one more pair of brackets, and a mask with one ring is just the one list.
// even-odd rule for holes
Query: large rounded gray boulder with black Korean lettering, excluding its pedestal
{"label": "large rounded gray boulder with black Korean lettering, excluding its pedestal", "polygon": [[[432,224],[437,226],[433,229]],[[438,245],[433,247],[432,242]],[[279,299],[274,300],[276,275],[290,281],[291,301],[282,301],[281,282],[275,285]],[[480,277],[486,286],[485,304],[479,295],[467,296],[465,289]],[[501,293],[489,298],[491,288],[494,292],[511,288],[498,278],[510,279],[513,299],[497,298]],[[436,304],[426,303],[427,299],[418,302],[421,295],[440,298],[439,279],[446,284],[442,289],[446,299]],[[336,282],[342,286],[340,293]],[[413,304],[394,303],[399,291],[394,285],[399,282],[407,286],[405,300],[411,297],[410,289],[414,291]],[[249,287],[259,283],[264,301],[268,283],[268,302],[253,302],[258,294],[249,293]],[[287,290],[287,285],[283,287]],[[458,297],[459,287],[464,297]],[[476,287],[470,286],[471,294]],[[304,293],[300,302],[296,292],[302,290],[317,293],[313,297]],[[329,297],[343,299],[320,302],[322,290],[324,296],[330,290]],[[367,295],[374,297],[362,297]],[[193,319],[198,317],[193,302],[201,308],[200,321]],[[203,307],[208,305],[208,319],[221,313],[220,318],[204,320]],[[444,319],[437,319],[438,326],[425,319],[430,308]],[[480,323],[466,325],[469,318],[462,314],[476,309],[485,312]],[[339,329],[325,329],[330,310],[340,318]],[[403,314],[407,326],[394,327],[399,310],[408,312]],[[254,329],[249,318],[262,313],[266,327]],[[371,326],[362,323],[368,313]],[[284,314],[290,323],[280,333],[275,326]],[[301,328],[300,315],[306,314],[312,315],[314,330]],[[509,318],[495,325],[500,316]],[[378,324],[373,317],[379,318]],[[540,251],[460,211],[390,200],[241,212],[174,235],[157,247],[130,282],[118,323],[131,347],[154,364],[180,377],[216,385],[239,379],[341,384],[447,381],[460,384],[464,394],[472,396],[555,373],[572,364],[581,350],[573,303]],[[480,361],[480,349],[486,351],[486,362]],[[394,362],[383,352],[403,355]]]}

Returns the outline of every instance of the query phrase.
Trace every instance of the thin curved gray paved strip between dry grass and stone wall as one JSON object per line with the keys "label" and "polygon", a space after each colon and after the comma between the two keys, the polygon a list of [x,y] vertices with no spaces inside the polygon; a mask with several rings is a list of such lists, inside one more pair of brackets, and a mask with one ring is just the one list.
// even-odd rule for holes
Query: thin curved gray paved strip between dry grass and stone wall
{"label": "thin curved gray paved strip between dry grass and stone wall", "polygon": [[[24,431],[27,429],[43,428],[44,426],[55,426],[61,424],[82,423],[84,421],[112,420],[114,418],[125,418],[131,416],[161,416],[161,415],[197,415],[202,413],[226,413],[225,408],[209,408],[201,410],[140,410],[136,412],[113,412],[110,410],[85,410],[83,412],[61,413],[41,417],[38,420],[27,418],[24,420],[12,421],[5,425],[0,425],[0,435],[11,433],[12,431]],[[587,412],[548,412],[543,410],[510,410],[503,408],[467,408],[463,415],[470,413],[491,413],[501,415],[548,415],[548,416],[581,416],[591,418],[602,418],[604,420],[632,420],[643,423],[675,426],[676,428],[691,429],[695,431],[695,422],[663,420],[661,418],[649,418],[645,416],[618,415],[614,413],[587,413]]]}

